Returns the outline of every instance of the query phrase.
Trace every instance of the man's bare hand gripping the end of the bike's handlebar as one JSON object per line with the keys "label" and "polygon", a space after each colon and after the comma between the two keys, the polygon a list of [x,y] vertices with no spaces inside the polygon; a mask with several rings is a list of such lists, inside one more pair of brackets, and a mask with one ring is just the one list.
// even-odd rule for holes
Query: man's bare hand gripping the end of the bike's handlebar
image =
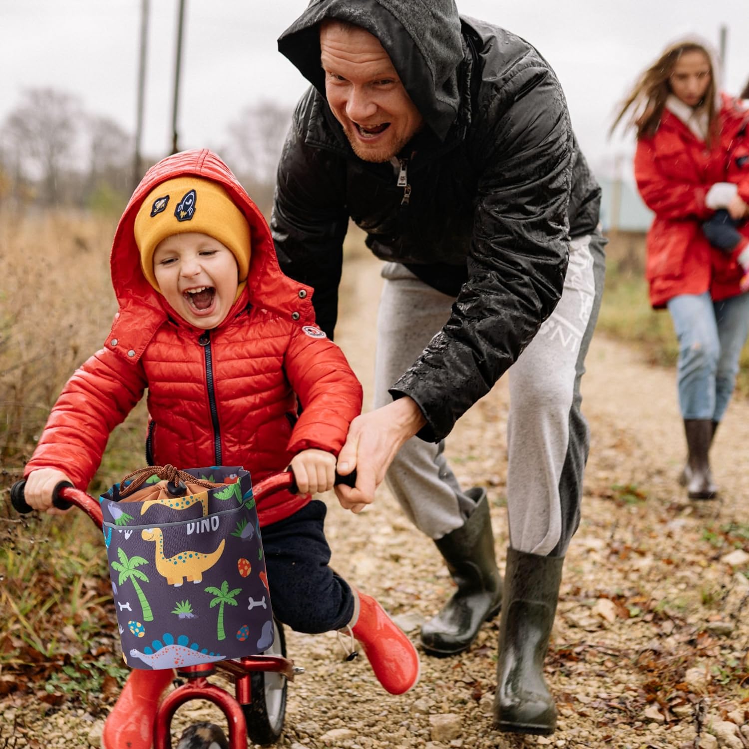
{"label": "man's bare hand gripping the end of the bike's handlebar", "polygon": [[338,456],[338,472],[348,476],[357,470],[357,485],[336,486],[336,497],[344,509],[361,512],[375,499],[375,489],[383,482],[395,453],[413,437],[426,419],[407,396],[357,416]]}

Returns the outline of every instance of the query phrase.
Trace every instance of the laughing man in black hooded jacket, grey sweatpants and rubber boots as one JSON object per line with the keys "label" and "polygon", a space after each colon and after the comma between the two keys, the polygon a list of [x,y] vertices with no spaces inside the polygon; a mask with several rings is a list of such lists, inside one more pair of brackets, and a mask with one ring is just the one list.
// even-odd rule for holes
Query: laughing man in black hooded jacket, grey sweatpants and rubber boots
{"label": "laughing man in black hooded jacket, grey sweatpants and rubber boots", "polygon": [[[315,288],[332,335],[350,217],[386,261],[377,407],[351,425],[339,470],[356,467],[357,487],[339,500],[358,511],[389,467],[458,586],[422,628],[425,649],[466,649],[503,604],[496,724],[552,733],[543,661],[579,522],[579,386],[604,272],[600,189],[559,82],[532,46],[459,18],[452,0],[315,0],[279,49],[312,82],[279,164],[282,267]],[[503,588],[485,490],[458,485],[443,439],[508,370]]]}

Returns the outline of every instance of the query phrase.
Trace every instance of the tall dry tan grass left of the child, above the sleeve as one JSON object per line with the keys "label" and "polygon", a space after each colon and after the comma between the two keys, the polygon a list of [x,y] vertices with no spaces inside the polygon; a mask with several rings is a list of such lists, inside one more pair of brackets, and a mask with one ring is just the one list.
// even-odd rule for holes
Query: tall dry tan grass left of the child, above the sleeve
{"label": "tall dry tan grass left of the child, above the sleeve", "polygon": [[[0,295],[4,483],[22,470],[68,377],[109,332],[117,309],[109,279],[114,230],[114,219],[70,210],[0,215],[0,264],[7,269]],[[135,419],[142,422],[142,413]],[[130,442],[136,427],[120,430],[124,435],[110,444],[118,469],[123,437]]]}

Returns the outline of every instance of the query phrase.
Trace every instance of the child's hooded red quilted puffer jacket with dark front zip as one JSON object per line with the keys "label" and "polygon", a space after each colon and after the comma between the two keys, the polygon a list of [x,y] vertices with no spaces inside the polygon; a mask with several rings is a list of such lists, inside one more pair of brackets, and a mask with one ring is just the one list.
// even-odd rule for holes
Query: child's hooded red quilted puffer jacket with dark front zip
{"label": "child's hooded red quilted puffer jacket with dark front zip", "polygon": [[[246,288],[214,330],[188,325],[140,269],[133,222],[160,182],[199,175],[222,184],[252,231]],[[362,389],[339,348],[314,326],[312,289],[284,276],[255,204],[210,151],[176,154],[150,169],[130,199],[112,245],[119,302],[104,348],[70,378],[25,475],[57,468],[85,488],[109,433],[148,388],[147,452],[178,468],[243,466],[253,479],[284,470],[315,447],[337,454]],[[303,413],[297,421],[297,393]],[[133,469],[139,461],[133,456]],[[280,492],[258,506],[261,526],[288,517],[309,496]]]}

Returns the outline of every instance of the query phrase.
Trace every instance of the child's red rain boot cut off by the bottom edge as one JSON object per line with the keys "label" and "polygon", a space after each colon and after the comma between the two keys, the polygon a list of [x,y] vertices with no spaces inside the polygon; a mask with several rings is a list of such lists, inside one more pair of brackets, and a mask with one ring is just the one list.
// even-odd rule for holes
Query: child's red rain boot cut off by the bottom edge
{"label": "child's red rain boot cut off by the bottom edge", "polygon": [[174,673],[171,668],[130,673],[117,704],[106,718],[103,749],[151,749],[156,709]]}

